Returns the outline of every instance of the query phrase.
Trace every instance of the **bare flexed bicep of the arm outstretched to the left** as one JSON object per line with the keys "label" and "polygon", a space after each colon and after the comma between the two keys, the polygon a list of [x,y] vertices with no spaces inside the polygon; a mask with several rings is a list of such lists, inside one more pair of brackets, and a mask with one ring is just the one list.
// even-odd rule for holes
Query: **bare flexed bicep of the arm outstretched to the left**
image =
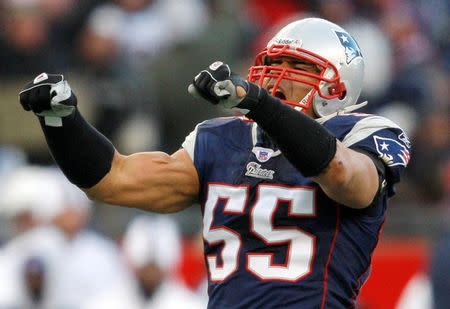
{"label": "bare flexed bicep of the arm outstretched to the left", "polygon": [[192,205],[199,180],[184,149],[172,155],[116,152],[111,171],[86,193],[105,203],[155,212],[176,212]]}

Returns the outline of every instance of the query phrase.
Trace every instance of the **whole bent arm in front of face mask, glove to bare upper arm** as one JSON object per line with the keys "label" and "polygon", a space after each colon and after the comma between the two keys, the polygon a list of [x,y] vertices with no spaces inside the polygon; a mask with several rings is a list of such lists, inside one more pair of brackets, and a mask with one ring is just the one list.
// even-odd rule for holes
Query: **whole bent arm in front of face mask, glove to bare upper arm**
{"label": "whole bent arm in front of face mask, glove to bare upper arm", "polygon": [[248,110],[246,116],[276,142],[291,164],[336,202],[365,208],[379,192],[379,159],[344,146],[316,120],[243,80],[228,65],[216,62],[200,72],[189,92],[213,104]]}

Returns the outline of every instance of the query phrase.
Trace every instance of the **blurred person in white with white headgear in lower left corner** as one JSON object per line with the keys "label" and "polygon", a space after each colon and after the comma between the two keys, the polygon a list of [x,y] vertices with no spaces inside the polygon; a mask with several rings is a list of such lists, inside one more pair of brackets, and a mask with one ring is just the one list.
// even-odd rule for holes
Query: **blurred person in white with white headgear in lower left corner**
{"label": "blurred person in white with white headgear in lower left corner", "polygon": [[12,174],[2,189],[1,208],[28,220],[0,254],[0,306],[88,308],[113,295],[117,307],[108,308],[133,308],[131,274],[116,245],[85,228],[90,206],[81,191],[37,167]]}

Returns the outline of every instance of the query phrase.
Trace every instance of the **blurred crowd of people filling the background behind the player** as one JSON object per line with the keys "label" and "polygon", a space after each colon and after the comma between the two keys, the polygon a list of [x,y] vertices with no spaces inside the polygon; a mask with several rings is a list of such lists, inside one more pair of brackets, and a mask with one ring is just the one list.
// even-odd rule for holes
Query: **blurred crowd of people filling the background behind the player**
{"label": "blurred crowd of people filling the background behind the player", "polygon": [[[403,252],[423,261],[405,279],[421,293],[409,295],[421,298],[417,308],[445,308],[429,287],[450,290],[449,15],[447,0],[0,1],[0,307],[201,308],[206,299],[198,205],[160,217],[86,200],[21,110],[26,82],[63,73],[119,151],[171,153],[198,122],[229,113],[187,94],[199,70],[223,60],[245,76],[274,31],[318,16],[361,46],[362,111],[410,137],[382,243],[423,246]],[[403,290],[397,308],[415,308]]]}

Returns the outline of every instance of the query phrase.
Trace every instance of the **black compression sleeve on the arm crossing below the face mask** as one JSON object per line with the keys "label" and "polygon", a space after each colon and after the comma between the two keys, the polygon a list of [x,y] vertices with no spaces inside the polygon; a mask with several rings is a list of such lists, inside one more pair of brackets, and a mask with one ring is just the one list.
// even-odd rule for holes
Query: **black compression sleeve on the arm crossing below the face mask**
{"label": "black compression sleeve on the arm crossing below the face mask", "polygon": [[239,107],[250,110],[247,117],[258,123],[304,176],[319,175],[336,153],[336,138],[314,119],[255,87],[250,84]]}

